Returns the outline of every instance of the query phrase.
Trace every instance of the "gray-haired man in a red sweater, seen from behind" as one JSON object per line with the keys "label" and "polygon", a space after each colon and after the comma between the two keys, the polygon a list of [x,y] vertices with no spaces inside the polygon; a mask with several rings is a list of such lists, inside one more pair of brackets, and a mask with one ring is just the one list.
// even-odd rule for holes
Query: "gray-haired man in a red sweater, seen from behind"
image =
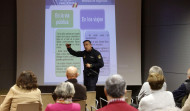
{"label": "gray-haired man in a red sweater, seen from behind", "polygon": [[138,111],[125,102],[126,82],[120,75],[112,75],[106,80],[104,92],[108,105],[97,111]]}

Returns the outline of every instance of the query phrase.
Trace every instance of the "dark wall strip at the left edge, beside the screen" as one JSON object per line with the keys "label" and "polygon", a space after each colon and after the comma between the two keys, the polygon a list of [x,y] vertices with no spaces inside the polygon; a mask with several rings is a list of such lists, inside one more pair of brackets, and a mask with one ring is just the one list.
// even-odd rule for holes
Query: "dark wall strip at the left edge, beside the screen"
{"label": "dark wall strip at the left edge, beside the screen", "polygon": [[16,0],[2,0],[0,7],[0,89],[10,88],[16,77]]}

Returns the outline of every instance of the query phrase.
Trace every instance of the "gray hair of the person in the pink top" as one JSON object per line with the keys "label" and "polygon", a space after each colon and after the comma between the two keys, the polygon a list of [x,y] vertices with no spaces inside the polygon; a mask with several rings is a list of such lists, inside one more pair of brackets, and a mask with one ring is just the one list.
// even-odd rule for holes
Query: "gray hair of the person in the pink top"
{"label": "gray hair of the person in the pink top", "polygon": [[58,98],[72,98],[75,94],[75,89],[72,83],[70,82],[62,82],[55,89],[55,94]]}

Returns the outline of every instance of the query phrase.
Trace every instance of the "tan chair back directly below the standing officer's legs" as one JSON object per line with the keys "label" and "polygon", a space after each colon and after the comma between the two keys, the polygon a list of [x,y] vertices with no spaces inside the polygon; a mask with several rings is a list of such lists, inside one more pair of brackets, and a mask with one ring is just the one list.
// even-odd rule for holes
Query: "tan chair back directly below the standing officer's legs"
{"label": "tan chair back directly below the standing officer's legs", "polygon": [[87,109],[91,109],[91,106],[96,107],[96,91],[87,91],[87,99],[86,99],[86,104],[87,104]]}

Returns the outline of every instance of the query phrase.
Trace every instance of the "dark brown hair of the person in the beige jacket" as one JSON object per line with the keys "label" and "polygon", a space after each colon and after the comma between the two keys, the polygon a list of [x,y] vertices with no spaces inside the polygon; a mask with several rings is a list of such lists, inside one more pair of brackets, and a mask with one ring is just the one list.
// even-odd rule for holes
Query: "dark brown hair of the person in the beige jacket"
{"label": "dark brown hair of the person in the beige jacket", "polygon": [[37,77],[32,71],[23,71],[18,77],[16,85],[27,90],[36,89],[38,87]]}

